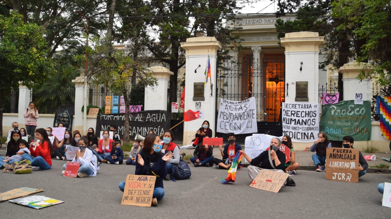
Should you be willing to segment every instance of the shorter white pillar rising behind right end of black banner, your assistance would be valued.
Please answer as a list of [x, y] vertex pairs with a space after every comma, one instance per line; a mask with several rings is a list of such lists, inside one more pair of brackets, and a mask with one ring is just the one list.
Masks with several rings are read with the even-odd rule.
[[158, 79], [158, 85], [145, 87], [144, 110], [167, 110], [167, 89], [170, 75], [174, 73], [161, 66], [153, 66], [147, 70], [151, 71], [152, 76]]

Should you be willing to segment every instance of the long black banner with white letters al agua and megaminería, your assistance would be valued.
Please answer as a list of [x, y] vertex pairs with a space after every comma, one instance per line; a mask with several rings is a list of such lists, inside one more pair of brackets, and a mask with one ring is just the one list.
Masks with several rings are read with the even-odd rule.
[[[170, 129], [170, 112], [165, 110], [147, 110], [129, 114], [129, 137], [134, 139], [137, 134], [147, 136], [149, 130], [157, 135], [164, 134]], [[117, 126], [117, 133], [124, 136], [125, 113], [106, 114], [97, 116], [95, 135], [100, 137], [100, 131], [110, 129], [110, 125]]]

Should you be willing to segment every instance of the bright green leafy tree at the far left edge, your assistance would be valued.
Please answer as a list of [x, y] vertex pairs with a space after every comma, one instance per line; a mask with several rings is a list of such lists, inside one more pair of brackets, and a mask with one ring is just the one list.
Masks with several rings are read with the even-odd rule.
[[[0, 15], [0, 132], [3, 124], [4, 96], [21, 82], [28, 88], [38, 87], [54, 71], [54, 62], [43, 29], [34, 23], [23, 23], [20, 14]], [[2, 133], [0, 133], [2, 135]]]

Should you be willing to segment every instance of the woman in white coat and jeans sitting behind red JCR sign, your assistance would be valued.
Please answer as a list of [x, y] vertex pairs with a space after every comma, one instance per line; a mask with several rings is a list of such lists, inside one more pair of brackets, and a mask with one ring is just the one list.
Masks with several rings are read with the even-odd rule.
[[[86, 137], [80, 138], [78, 145], [79, 149], [76, 150], [76, 154], [72, 162], [80, 163], [79, 172], [77, 172], [77, 176], [86, 177], [86, 176], [96, 176], [97, 175], [97, 160], [93, 155], [90, 149], [86, 149], [88, 144], [88, 140]], [[63, 165], [65, 173], [66, 163]]]

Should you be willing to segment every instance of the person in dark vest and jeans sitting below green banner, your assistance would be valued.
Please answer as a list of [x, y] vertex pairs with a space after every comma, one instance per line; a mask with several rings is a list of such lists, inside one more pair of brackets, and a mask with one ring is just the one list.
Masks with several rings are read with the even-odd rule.
[[315, 152], [312, 154], [312, 160], [315, 163], [317, 172], [324, 172], [325, 168], [322, 168], [326, 164], [326, 147], [331, 147], [331, 142], [327, 139], [327, 134], [322, 131], [318, 134], [318, 139], [310, 147], [310, 151]]

